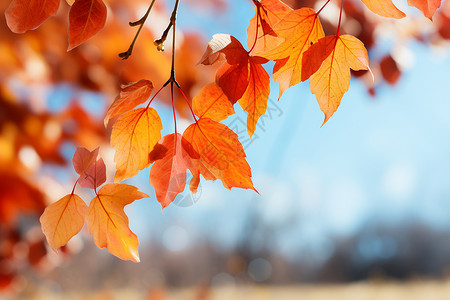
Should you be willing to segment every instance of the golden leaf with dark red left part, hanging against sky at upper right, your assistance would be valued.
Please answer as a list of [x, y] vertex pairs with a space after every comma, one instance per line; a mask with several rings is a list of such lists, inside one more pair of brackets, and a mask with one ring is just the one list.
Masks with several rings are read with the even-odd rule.
[[[364, 44], [351, 35], [326, 36], [312, 45], [303, 56], [302, 79], [309, 76], [311, 93], [316, 95], [320, 109], [325, 114], [325, 124], [341, 103], [350, 86], [350, 68], [370, 70]], [[322, 124], [322, 126], [323, 126]]]

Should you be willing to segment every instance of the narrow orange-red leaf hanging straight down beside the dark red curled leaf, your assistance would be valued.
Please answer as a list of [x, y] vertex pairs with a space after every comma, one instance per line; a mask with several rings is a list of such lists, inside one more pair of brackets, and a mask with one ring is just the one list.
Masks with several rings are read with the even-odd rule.
[[247, 89], [239, 99], [239, 105], [248, 113], [247, 132], [250, 137], [255, 132], [259, 117], [266, 112], [270, 94], [270, 77], [261, 62], [265, 63], [266, 60], [261, 57], [250, 57]]

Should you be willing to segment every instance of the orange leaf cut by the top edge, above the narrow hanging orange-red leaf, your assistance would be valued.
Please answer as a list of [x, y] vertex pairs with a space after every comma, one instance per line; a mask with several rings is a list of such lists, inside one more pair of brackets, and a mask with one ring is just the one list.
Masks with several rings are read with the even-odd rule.
[[252, 53], [258, 55], [259, 52], [266, 52], [283, 41], [272, 27], [291, 12], [292, 8], [279, 0], [253, 1], [253, 3], [256, 14], [250, 19], [247, 28], [247, 46], [249, 49], [253, 48]]

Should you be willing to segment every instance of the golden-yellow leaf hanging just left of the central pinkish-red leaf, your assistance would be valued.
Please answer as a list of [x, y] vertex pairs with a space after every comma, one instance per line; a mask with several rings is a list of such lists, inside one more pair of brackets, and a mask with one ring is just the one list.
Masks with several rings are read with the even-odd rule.
[[138, 108], [122, 115], [111, 132], [111, 146], [116, 147], [115, 182], [135, 176], [148, 167], [149, 153], [161, 138], [161, 119], [153, 108]]

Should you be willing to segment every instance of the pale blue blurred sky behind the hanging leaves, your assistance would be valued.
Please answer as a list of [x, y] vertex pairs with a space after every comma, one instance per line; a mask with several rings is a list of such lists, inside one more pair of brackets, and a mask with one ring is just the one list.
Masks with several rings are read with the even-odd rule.
[[[180, 26], [201, 27], [206, 38], [231, 33], [244, 44], [253, 11], [237, 5], [231, 2], [232, 21], [180, 14]], [[198, 202], [189, 207], [171, 205], [161, 213], [155, 201], [136, 202], [129, 209], [138, 216], [132, 226], [144, 239], [161, 237], [174, 251], [204, 238], [226, 248], [238, 240], [248, 216], [258, 214], [266, 225], [282, 228], [274, 237], [276, 250], [295, 255], [310, 249], [325, 258], [330, 237], [350, 236], [371, 220], [448, 229], [450, 60], [437, 59], [418, 43], [410, 49], [415, 64], [396, 86], [384, 86], [371, 98], [361, 82], [352, 81], [322, 128], [323, 114], [307, 83], [290, 88], [279, 102], [272, 84], [272, 115], [246, 149], [261, 197], [203, 182]], [[238, 111], [226, 123], [243, 130], [245, 119]], [[146, 183], [148, 172], [139, 178]], [[151, 187], [144, 191], [152, 195]]]

